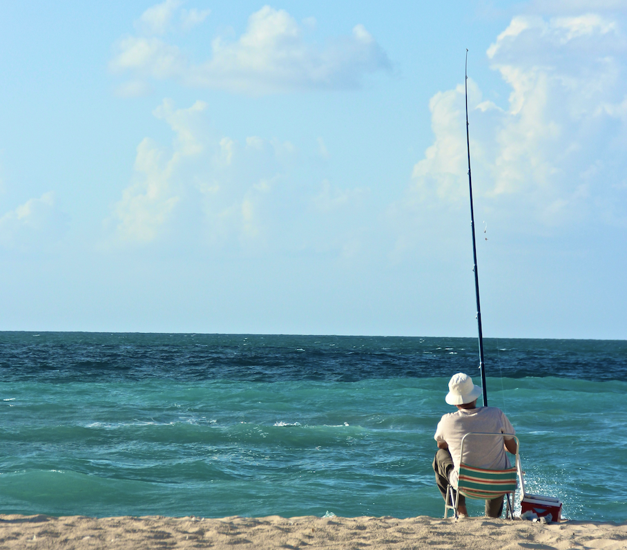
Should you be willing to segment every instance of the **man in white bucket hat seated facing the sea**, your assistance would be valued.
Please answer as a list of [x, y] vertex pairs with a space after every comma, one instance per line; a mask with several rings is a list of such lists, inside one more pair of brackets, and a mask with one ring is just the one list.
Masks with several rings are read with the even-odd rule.
[[[476, 400], [481, 395], [481, 388], [472, 383], [472, 378], [463, 372], [454, 374], [448, 383], [449, 392], [446, 402], [457, 407], [456, 412], [444, 415], [438, 422], [434, 439], [438, 442], [438, 452], [433, 461], [436, 483], [442, 496], [446, 498], [446, 488], [451, 484], [457, 487], [461, 438], [467, 433], [507, 433], [514, 435], [514, 428], [503, 411], [496, 407], [477, 407]], [[477, 468], [504, 470], [510, 468], [510, 461], [505, 449], [516, 453], [516, 441], [513, 437], [502, 439], [474, 437], [466, 438], [464, 443], [464, 462]], [[458, 513], [467, 516], [466, 502], [459, 495]], [[485, 515], [499, 518], [503, 512], [503, 497], [485, 501]]]

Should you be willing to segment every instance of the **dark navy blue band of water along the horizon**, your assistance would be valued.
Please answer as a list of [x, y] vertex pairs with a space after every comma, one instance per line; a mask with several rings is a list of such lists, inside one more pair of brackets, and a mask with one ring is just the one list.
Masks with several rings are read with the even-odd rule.
[[[627, 379], [627, 342], [485, 339], [490, 376]], [[476, 372], [476, 339], [231, 334], [0, 333], [4, 379], [111, 381], [450, 377]]]

